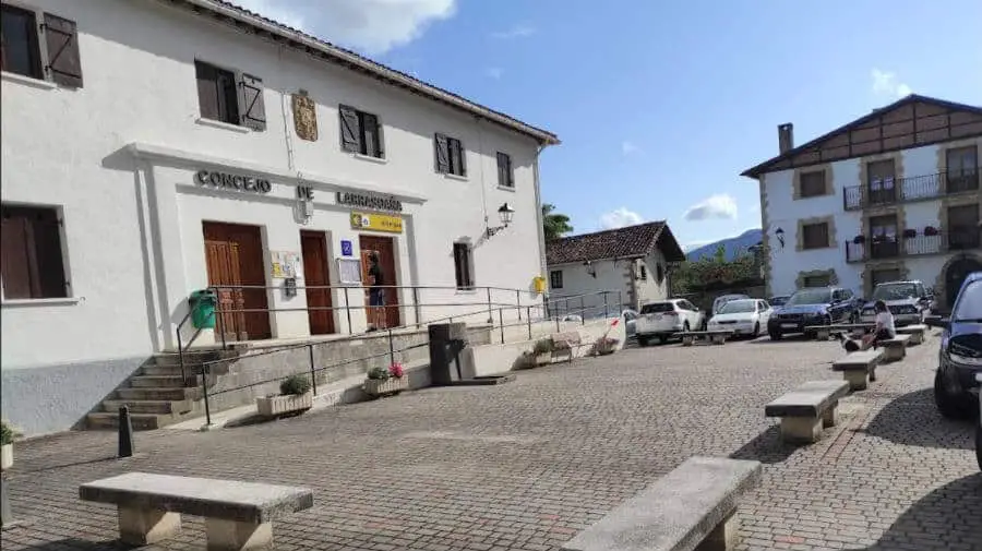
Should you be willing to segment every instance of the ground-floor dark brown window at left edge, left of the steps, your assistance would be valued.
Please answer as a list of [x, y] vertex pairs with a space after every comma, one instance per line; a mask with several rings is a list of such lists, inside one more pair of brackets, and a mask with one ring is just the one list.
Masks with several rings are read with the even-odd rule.
[[58, 212], [50, 207], [0, 207], [0, 278], [5, 299], [68, 297]]

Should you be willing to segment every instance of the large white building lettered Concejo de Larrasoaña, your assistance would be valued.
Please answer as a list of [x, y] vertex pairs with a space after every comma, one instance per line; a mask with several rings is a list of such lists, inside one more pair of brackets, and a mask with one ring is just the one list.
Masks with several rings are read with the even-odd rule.
[[225, 2], [2, 7], [4, 417], [67, 428], [214, 285], [196, 344], [541, 301], [553, 134]]

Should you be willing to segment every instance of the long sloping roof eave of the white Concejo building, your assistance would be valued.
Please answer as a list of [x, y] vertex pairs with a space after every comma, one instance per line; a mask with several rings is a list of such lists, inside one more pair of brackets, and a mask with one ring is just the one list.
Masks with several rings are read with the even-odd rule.
[[430, 99], [446, 104], [451, 107], [455, 107], [457, 109], [470, 112], [475, 116], [484, 118], [489, 121], [496, 122], [505, 128], [508, 128], [515, 132], [527, 135], [529, 137], [535, 139], [540, 145], [549, 146], [549, 145], [559, 145], [559, 137], [546, 130], [532, 127], [531, 124], [527, 124], [517, 119], [513, 119], [500, 112], [493, 111], [487, 107], [480, 106], [467, 99], [464, 99], [459, 96], [451, 94], [446, 91], [440, 89], [435, 86], [429, 85], [416, 79], [412, 79], [408, 75], [402, 74], [393, 69], [384, 67], [374, 61], [362, 58], [356, 53], [345, 51], [335, 46], [332, 46], [327, 43], [313, 39], [309, 36], [306, 36], [302, 33], [290, 31], [283, 25], [277, 25], [263, 19], [256, 17], [254, 15], [249, 15], [247, 13], [242, 13], [239, 10], [230, 8], [228, 5], [221, 5], [211, 0], [164, 0], [168, 3], [188, 3], [193, 7], [196, 7], [201, 10], [208, 10], [213, 13], [223, 15], [230, 20], [244, 23], [251, 25], [254, 28], [262, 29], [266, 33], [270, 33], [274, 36], [279, 36], [282, 38], [286, 38], [288, 40], [294, 40], [298, 46], [304, 49], [308, 52], [311, 50], [316, 50], [326, 57], [331, 58], [333, 61], [338, 62], [340, 64], [346, 64], [349, 67], [354, 67], [360, 69], [367, 73], [372, 74], [375, 77], [379, 77], [383, 81], [387, 81], [390, 84], [396, 86], [403, 86], [409, 88], [420, 95], [427, 96]]

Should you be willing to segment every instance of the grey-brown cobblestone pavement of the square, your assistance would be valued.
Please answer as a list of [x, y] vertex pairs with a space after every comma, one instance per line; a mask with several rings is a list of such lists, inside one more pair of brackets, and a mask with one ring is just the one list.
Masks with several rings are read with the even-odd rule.
[[[937, 337], [846, 398], [840, 423], [783, 446], [764, 404], [838, 379], [836, 343], [733, 342], [624, 350], [486, 387], [429, 388], [211, 433], [23, 442], [11, 471], [25, 525], [3, 549], [116, 549], [116, 511], [81, 482], [129, 470], [309, 486], [314, 507], [275, 526], [277, 549], [558, 550], [692, 455], [765, 464], [741, 502], [740, 550], [980, 550], [982, 474], [968, 422], [931, 398]], [[201, 519], [166, 549], [200, 549]]]

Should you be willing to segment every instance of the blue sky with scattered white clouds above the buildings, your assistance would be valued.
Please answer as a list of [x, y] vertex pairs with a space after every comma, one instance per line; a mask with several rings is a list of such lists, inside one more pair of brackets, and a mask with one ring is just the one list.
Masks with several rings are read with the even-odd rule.
[[240, 3], [559, 134], [543, 201], [576, 232], [734, 236], [777, 124], [804, 143], [910, 92], [982, 105], [979, 0]]

